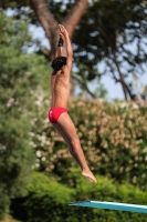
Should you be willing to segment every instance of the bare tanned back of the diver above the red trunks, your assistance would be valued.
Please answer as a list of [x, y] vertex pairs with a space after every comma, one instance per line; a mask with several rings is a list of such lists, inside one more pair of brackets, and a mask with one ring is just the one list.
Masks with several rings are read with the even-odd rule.
[[51, 107], [67, 107], [70, 99], [70, 74], [60, 70], [52, 73], [51, 75], [51, 91], [52, 91], [52, 102]]

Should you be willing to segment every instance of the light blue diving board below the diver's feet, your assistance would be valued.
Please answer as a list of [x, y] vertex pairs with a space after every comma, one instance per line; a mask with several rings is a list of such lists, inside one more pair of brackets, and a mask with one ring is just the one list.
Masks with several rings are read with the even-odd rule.
[[71, 202], [69, 203], [69, 205], [147, 213], [147, 205], [137, 205], [137, 204], [128, 204], [128, 203], [116, 203], [116, 202], [105, 202], [105, 201], [103, 202], [102, 201], [78, 201], [78, 202]]

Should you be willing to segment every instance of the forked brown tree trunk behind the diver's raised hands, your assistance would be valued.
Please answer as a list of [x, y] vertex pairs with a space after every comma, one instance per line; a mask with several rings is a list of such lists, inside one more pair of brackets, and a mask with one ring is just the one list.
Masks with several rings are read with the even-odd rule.
[[[53, 18], [44, 0], [30, 0], [30, 2], [51, 44], [50, 59], [52, 60], [54, 57], [57, 40], [59, 40], [57, 21]], [[71, 39], [73, 36], [74, 29], [80, 22], [80, 19], [82, 14], [84, 13], [84, 10], [87, 3], [88, 3], [87, 0], [75, 0], [71, 11], [62, 21], [62, 24], [67, 30]]]

